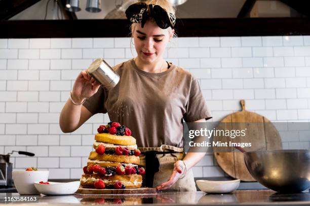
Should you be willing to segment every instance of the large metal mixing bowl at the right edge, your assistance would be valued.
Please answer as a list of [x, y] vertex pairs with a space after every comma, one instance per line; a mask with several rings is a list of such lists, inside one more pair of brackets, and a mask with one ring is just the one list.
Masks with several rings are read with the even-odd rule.
[[278, 192], [301, 192], [310, 188], [310, 150], [265, 150], [243, 153], [251, 175]]

